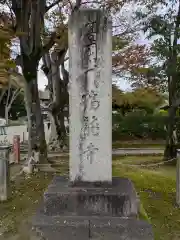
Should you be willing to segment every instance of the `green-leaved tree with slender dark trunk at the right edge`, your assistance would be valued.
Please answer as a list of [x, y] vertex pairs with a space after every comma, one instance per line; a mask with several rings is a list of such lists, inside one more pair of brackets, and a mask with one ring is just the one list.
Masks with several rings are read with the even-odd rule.
[[[144, 5], [146, 9], [143, 8]], [[147, 1], [144, 5], [139, 8], [136, 20], [141, 21], [146, 36], [153, 41], [152, 52], [156, 66], [161, 67], [168, 87], [169, 120], [164, 157], [170, 159], [176, 157], [177, 147], [173, 132], [176, 128], [175, 116], [180, 97], [178, 77], [180, 1]], [[164, 8], [164, 11], [158, 11], [160, 8]]]

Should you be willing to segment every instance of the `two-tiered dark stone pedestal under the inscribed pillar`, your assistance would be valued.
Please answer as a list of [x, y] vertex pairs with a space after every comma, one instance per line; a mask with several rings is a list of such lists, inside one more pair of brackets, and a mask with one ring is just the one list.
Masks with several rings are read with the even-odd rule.
[[152, 227], [137, 220], [138, 209], [128, 179], [74, 185], [57, 176], [44, 193], [33, 227], [44, 240], [152, 240]]

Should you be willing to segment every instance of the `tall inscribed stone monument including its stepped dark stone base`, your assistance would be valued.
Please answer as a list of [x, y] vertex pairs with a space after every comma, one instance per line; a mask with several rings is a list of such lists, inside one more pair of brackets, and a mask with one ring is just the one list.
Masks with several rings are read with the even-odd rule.
[[69, 20], [70, 176], [56, 176], [33, 226], [47, 240], [152, 240], [130, 180], [112, 177], [112, 31], [101, 10]]

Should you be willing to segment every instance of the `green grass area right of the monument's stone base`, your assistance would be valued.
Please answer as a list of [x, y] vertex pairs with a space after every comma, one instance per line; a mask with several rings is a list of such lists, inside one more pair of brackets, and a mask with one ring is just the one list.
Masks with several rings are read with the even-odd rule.
[[127, 177], [134, 182], [145, 209], [143, 218], [151, 221], [156, 240], [180, 239], [180, 209], [175, 206], [176, 185], [172, 171], [175, 173], [175, 167], [163, 166], [149, 170], [115, 165], [113, 168], [114, 176]]

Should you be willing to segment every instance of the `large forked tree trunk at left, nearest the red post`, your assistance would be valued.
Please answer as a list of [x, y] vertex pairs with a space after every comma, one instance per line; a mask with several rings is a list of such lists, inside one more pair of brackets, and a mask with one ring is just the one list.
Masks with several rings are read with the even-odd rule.
[[40, 153], [40, 162], [47, 160], [47, 146], [45, 141], [44, 124], [41, 114], [37, 70], [42, 55], [49, 51], [55, 44], [56, 33], [52, 33], [50, 40], [43, 45], [42, 34], [44, 33], [44, 16], [51, 7], [47, 9], [46, 1], [11, 1], [11, 7], [16, 17], [15, 28], [17, 32], [23, 32], [19, 36], [20, 58], [19, 64], [22, 67], [25, 78], [26, 109], [28, 116], [29, 130], [29, 157], [32, 150]]

